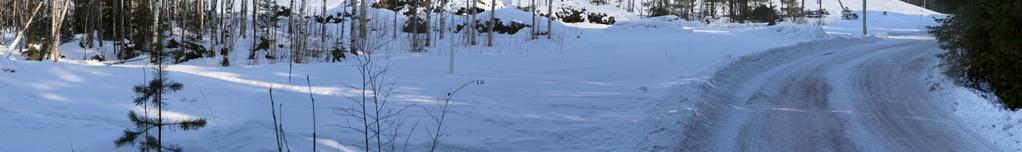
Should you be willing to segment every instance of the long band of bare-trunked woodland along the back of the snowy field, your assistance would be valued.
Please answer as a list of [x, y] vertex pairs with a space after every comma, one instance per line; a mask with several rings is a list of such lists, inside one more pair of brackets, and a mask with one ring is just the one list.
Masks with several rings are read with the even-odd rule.
[[[29, 60], [59, 60], [57, 44], [77, 42], [81, 49], [112, 53], [87, 53], [83, 59], [129, 60], [169, 53], [175, 63], [196, 58], [219, 58], [231, 65], [232, 52], [246, 52], [249, 63], [339, 61], [363, 53], [368, 42], [403, 41], [411, 51], [428, 50], [435, 40], [458, 37], [478, 45], [493, 33], [513, 35], [529, 28], [531, 39], [551, 38], [550, 20], [612, 24], [614, 17], [579, 8], [553, 8], [552, 0], [504, 2], [532, 14], [531, 22], [501, 21], [495, 17], [496, 0], [469, 0], [448, 8], [451, 0], [350, 0], [327, 9], [309, 5], [325, 0], [5, 0], [0, 2], [0, 42]], [[595, 4], [612, 5], [605, 0]], [[782, 0], [620, 0], [616, 5], [644, 16], [678, 15], [690, 20], [727, 18], [731, 22], [804, 22], [804, 2]], [[482, 8], [490, 6], [491, 8]], [[544, 6], [546, 10], [544, 10]], [[374, 18], [370, 9], [390, 10], [398, 17]], [[450, 10], [449, 10], [450, 9]], [[338, 11], [339, 10], [339, 11]], [[328, 12], [330, 11], [330, 12]], [[552, 12], [552, 13], [551, 13]], [[489, 13], [489, 15], [487, 15]], [[489, 18], [485, 18], [486, 16]], [[540, 26], [537, 17], [547, 19]], [[461, 22], [454, 22], [459, 18]], [[471, 20], [471, 21], [468, 21]], [[388, 29], [388, 30], [383, 30]], [[389, 30], [392, 29], [392, 30]], [[544, 30], [545, 29], [545, 30]], [[370, 38], [370, 31], [384, 38]], [[409, 34], [399, 39], [399, 34]], [[456, 35], [457, 34], [457, 35]], [[408, 40], [404, 40], [408, 39]], [[375, 42], [375, 41], [374, 41]], [[376, 44], [379, 45], [379, 44]], [[87, 51], [88, 52], [88, 51]], [[151, 58], [151, 57], [150, 57]]]

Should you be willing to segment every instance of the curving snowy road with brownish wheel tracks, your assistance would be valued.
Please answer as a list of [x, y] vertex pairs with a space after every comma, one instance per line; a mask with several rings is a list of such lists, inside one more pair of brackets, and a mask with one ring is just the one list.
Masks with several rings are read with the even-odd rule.
[[837, 40], [770, 51], [804, 54], [780, 63], [744, 59], [744, 67], [725, 68], [742, 75], [714, 78], [725, 82], [716, 92], [730, 95], [702, 95], [710, 101], [695, 109], [715, 111], [684, 129], [691, 135], [680, 148], [997, 151], [936, 106], [949, 104], [924, 81], [937, 50], [932, 40]]

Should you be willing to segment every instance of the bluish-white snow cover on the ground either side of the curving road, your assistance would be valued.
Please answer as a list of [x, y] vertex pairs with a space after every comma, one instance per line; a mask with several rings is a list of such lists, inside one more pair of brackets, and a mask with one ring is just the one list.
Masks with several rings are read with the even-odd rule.
[[[839, 14], [835, 4], [825, 1], [824, 7]], [[845, 4], [860, 6], [858, 2]], [[933, 23], [929, 18], [940, 16], [895, 0], [870, 1], [870, 5], [877, 9], [869, 14], [871, 35], [877, 37], [930, 39], [925, 26]], [[525, 18], [524, 13], [513, 11], [499, 12]], [[624, 19], [609, 27], [558, 23], [553, 41], [529, 41], [525, 33], [519, 33], [498, 37], [493, 48], [455, 47], [446, 45], [448, 40], [425, 53], [401, 53], [407, 52], [401, 47], [407, 45], [401, 43], [385, 47], [389, 53], [377, 54], [377, 58], [391, 65], [388, 77], [397, 87], [391, 100], [410, 105], [403, 113], [405, 125], [418, 123], [415, 133], [406, 135], [411, 137], [409, 151], [428, 149], [428, 135], [423, 131], [431, 119], [424, 111], [435, 110], [437, 97], [474, 80], [485, 84], [469, 87], [455, 98], [443, 129], [442, 151], [639, 151], [678, 144], [671, 137], [681, 135], [652, 131], [671, 123], [652, 118], [664, 110], [657, 107], [661, 103], [679, 102], [677, 97], [686, 95], [677, 92], [679, 86], [704, 81], [741, 56], [772, 48], [862, 38], [861, 20], [839, 20], [836, 15], [823, 27], [700, 24], [670, 17], [617, 15]], [[71, 50], [65, 51], [68, 59], [60, 62], [0, 59], [0, 68], [16, 70], [0, 72], [0, 151], [134, 151], [114, 147], [113, 140], [131, 126], [126, 117], [136, 109], [131, 89], [151, 77], [148, 65], [77, 60], [81, 53], [76, 52], [83, 50], [63, 48]], [[449, 73], [452, 49], [457, 54], [454, 73]], [[5, 56], [7, 51], [0, 52]], [[287, 64], [222, 67], [214, 59], [200, 59], [171, 65], [169, 78], [185, 89], [168, 97], [173, 102], [166, 112], [172, 118], [204, 117], [210, 123], [197, 132], [165, 138], [185, 151], [273, 151], [268, 94], [273, 88], [275, 100], [283, 104], [288, 146], [309, 151], [313, 144], [312, 106], [305, 85], [309, 75], [319, 114], [319, 150], [361, 151], [362, 135], [344, 128], [354, 124], [355, 118], [336, 110], [352, 107], [345, 97], [359, 92], [346, 87], [359, 85], [353, 64], [296, 64], [290, 78]], [[941, 91], [962, 97], [963, 103], [979, 100], [964, 88], [941, 84], [947, 88]], [[1019, 133], [1012, 128], [1018, 122], [1009, 122], [1018, 121], [1017, 112], [969, 117], [994, 108], [988, 101], [983, 103], [956, 105], [960, 108], [955, 113], [965, 121], [982, 120], [971, 124], [988, 138], [1018, 139], [993, 130]], [[1008, 120], [998, 120], [1005, 115]], [[986, 128], [988, 123], [994, 126]]]

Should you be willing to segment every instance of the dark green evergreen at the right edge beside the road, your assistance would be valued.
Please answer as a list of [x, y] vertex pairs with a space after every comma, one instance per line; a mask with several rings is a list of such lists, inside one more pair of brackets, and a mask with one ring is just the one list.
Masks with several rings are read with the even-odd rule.
[[953, 15], [930, 28], [945, 73], [996, 94], [1008, 108], [1022, 108], [1022, 1], [945, 0]]

